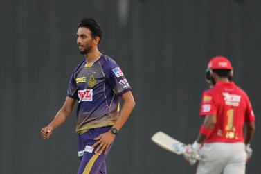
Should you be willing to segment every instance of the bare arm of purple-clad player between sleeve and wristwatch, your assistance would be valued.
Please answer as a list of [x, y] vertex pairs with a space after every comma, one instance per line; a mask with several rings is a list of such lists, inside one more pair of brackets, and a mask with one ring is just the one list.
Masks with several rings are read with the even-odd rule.
[[132, 96], [132, 92], [126, 92], [122, 96], [123, 98], [123, 107], [121, 107], [120, 114], [118, 117], [118, 120], [114, 124], [114, 128], [117, 130], [120, 130], [120, 128], [123, 127], [127, 119], [129, 118], [129, 115], [131, 114], [132, 110], [134, 109], [136, 103], [134, 101], [134, 98]]

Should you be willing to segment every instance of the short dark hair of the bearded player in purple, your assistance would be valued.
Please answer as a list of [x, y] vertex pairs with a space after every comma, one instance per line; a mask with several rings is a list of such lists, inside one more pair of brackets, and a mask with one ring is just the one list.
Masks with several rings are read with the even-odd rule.
[[100, 40], [102, 40], [102, 28], [100, 28], [100, 24], [92, 18], [83, 18], [82, 21], [80, 21], [80, 24], [78, 28], [80, 27], [86, 27], [89, 28], [91, 31], [91, 37], [100, 37]]

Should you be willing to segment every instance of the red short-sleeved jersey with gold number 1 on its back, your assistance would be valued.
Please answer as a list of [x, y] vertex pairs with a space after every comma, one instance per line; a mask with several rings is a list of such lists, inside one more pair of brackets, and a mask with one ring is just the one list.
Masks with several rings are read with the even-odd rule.
[[244, 123], [255, 121], [249, 97], [234, 82], [217, 82], [206, 90], [200, 115], [217, 116], [217, 123], [205, 143], [244, 142]]

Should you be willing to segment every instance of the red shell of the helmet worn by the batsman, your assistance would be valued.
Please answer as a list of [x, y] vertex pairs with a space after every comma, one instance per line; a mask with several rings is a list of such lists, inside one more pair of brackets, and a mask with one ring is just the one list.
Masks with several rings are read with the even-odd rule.
[[233, 70], [231, 62], [223, 56], [217, 56], [210, 60], [208, 69], [229, 69]]

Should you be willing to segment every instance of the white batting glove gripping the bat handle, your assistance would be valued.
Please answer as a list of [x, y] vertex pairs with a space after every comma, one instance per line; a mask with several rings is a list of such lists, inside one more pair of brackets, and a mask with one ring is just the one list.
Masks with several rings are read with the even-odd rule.
[[183, 156], [190, 165], [194, 165], [199, 159], [200, 148], [201, 148], [201, 143], [197, 143], [197, 141], [195, 141], [192, 145], [190, 144], [187, 145], [185, 153], [183, 153]]

